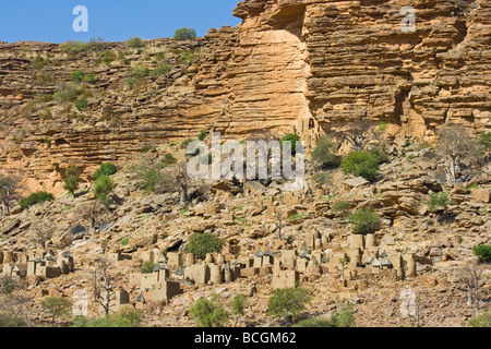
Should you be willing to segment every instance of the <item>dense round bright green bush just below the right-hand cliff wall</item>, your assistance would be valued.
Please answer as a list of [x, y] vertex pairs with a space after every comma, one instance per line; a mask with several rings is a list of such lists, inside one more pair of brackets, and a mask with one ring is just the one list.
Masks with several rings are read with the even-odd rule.
[[379, 174], [380, 158], [370, 152], [352, 152], [342, 161], [345, 174], [361, 176], [368, 181], [373, 181]]

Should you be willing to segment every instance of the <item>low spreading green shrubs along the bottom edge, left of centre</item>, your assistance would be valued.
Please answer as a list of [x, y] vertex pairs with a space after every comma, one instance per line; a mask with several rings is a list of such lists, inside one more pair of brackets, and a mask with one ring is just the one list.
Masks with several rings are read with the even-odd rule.
[[134, 310], [131, 306], [124, 306], [118, 313], [108, 317], [100, 317], [91, 321], [85, 316], [76, 316], [73, 321], [72, 327], [140, 327], [142, 324], [142, 311]]

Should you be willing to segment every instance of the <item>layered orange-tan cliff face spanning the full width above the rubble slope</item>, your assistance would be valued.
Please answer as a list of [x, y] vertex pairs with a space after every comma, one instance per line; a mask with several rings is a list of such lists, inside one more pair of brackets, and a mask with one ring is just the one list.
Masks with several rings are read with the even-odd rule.
[[[416, 11], [412, 32], [402, 27], [404, 7]], [[55, 44], [0, 43], [2, 167], [22, 168], [32, 189], [59, 193], [70, 163], [89, 173], [201, 130], [306, 139], [362, 117], [432, 141], [445, 122], [491, 128], [490, 0], [246, 0], [233, 14], [243, 20], [237, 27], [185, 45], [152, 40], [146, 55], [110, 67], [94, 56], [63, 57]], [[110, 49], [125, 50], [121, 43]], [[196, 49], [193, 64], [177, 57]], [[132, 67], [155, 69], [158, 52], [173, 69], [140, 92], [122, 89]], [[52, 64], [34, 69], [36, 55], [50, 55]], [[97, 76], [88, 111], [29, 105], [75, 70]], [[108, 106], [117, 124], [101, 120]]]

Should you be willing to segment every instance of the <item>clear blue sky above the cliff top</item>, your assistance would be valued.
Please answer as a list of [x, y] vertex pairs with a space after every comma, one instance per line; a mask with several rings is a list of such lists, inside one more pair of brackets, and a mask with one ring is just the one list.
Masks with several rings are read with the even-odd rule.
[[[208, 28], [236, 26], [231, 15], [239, 0], [11, 0], [1, 1], [0, 41], [87, 41], [103, 37], [123, 41], [171, 37], [181, 27], [192, 27], [199, 36]], [[73, 31], [73, 9], [88, 10], [88, 33]]]

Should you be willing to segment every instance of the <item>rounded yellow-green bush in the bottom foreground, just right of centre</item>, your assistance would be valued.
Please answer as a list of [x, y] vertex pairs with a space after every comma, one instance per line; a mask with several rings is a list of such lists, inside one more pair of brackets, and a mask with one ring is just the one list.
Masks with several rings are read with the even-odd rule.
[[302, 287], [276, 289], [267, 302], [267, 314], [275, 317], [291, 316], [295, 322], [311, 301], [309, 290]]

